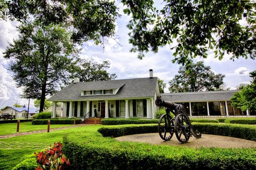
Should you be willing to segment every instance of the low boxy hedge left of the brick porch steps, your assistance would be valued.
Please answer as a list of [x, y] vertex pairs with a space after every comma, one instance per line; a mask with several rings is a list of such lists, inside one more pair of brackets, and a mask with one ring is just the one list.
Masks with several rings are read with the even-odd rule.
[[[35, 119], [32, 121], [32, 124], [48, 124], [48, 120], [51, 121], [51, 124], [74, 124], [73, 118], [51, 118], [51, 119]], [[81, 124], [82, 120], [80, 118], [76, 118], [76, 124]]]

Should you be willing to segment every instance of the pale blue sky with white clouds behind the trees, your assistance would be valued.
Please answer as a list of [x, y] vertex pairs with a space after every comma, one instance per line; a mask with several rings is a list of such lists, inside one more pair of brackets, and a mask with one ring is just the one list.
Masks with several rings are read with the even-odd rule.
[[[102, 46], [95, 46], [92, 41], [86, 42], [82, 46], [81, 58], [93, 59], [95, 61], [108, 60], [111, 63], [108, 72], [116, 73], [116, 79], [142, 78], [149, 76], [149, 69], [153, 69], [154, 76], [164, 80], [167, 84], [165, 92], [168, 91], [168, 82], [177, 74], [180, 65], [172, 63], [172, 50], [170, 46], [164, 46], [158, 53], [145, 53], [145, 58], [139, 60], [137, 53], [131, 53], [131, 44], [128, 43], [128, 32], [126, 25], [130, 18], [122, 13], [124, 8], [121, 3], [117, 3], [122, 17], [116, 22], [116, 40], [105, 38], [105, 50]], [[159, 4], [158, 4], [159, 5]], [[26, 99], [20, 98], [22, 88], [16, 88], [12, 79], [12, 72], [7, 70], [8, 61], [3, 58], [3, 52], [8, 42], [17, 38], [15, 25], [17, 22], [0, 20], [0, 108], [14, 103], [28, 104]], [[118, 45], [116, 41], [121, 45]], [[196, 58], [194, 61], [204, 61], [216, 73], [226, 75], [224, 82], [231, 89], [235, 89], [242, 82], [249, 82], [249, 72], [256, 69], [256, 61], [252, 59], [239, 58], [235, 61], [229, 59], [229, 55], [219, 61], [209, 52], [207, 59]]]

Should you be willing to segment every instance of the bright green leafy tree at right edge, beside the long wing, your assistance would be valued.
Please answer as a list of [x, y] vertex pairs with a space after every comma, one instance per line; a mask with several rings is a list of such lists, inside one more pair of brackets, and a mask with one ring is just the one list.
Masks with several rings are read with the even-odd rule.
[[250, 77], [253, 78], [251, 84], [244, 85], [230, 100], [233, 107], [242, 111], [248, 109], [256, 115], [256, 70], [250, 72]]

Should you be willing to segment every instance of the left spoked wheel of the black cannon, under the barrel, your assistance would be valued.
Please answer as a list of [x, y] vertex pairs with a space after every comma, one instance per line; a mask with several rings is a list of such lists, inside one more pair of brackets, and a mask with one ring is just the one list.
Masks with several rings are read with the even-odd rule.
[[168, 114], [163, 114], [158, 122], [158, 133], [160, 137], [165, 140], [169, 141], [174, 133], [174, 121], [172, 117]]

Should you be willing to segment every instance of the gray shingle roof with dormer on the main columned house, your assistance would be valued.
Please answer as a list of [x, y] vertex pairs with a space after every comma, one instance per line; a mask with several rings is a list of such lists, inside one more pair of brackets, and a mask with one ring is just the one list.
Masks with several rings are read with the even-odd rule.
[[[67, 100], [103, 100], [113, 98], [143, 98], [154, 97], [157, 86], [157, 77], [153, 78], [133, 78], [111, 81], [93, 81], [72, 83], [57, 92], [48, 101], [67, 101]], [[116, 89], [116, 95], [88, 95], [81, 96], [83, 90], [96, 89]]]

